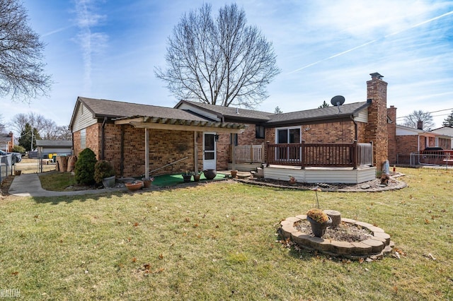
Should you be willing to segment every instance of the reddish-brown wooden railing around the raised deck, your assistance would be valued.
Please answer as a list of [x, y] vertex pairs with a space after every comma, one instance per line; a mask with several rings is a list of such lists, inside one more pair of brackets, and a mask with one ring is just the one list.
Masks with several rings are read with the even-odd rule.
[[267, 165], [354, 167], [372, 165], [372, 143], [266, 143]]

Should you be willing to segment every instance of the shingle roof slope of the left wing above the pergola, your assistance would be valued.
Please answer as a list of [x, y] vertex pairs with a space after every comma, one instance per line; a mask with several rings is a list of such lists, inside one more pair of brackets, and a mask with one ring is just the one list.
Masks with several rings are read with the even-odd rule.
[[194, 114], [171, 107], [158, 107], [155, 105], [140, 105], [137, 103], [120, 102], [115, 100], [99, 100], [94, 98], [82, 98], [80, 100], [88, 110], [93, 113], [94, 118], [108, 117], [112, 119], [148, 116], [168, 119], [186, 119], [206, 121], [207, 119], [197, 117]]

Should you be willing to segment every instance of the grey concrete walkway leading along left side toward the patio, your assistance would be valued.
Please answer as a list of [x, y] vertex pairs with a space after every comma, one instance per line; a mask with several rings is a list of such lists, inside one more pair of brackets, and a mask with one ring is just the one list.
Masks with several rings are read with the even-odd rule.
[[126, 188], [108, 188], [79, 191], [48, 191], [42, 189], [38, 174], [22, 174], [14, 177], [8, 193], [13, 196], [79, 196], [83, 194], [103, 194], [112, 191], [122, 191]]

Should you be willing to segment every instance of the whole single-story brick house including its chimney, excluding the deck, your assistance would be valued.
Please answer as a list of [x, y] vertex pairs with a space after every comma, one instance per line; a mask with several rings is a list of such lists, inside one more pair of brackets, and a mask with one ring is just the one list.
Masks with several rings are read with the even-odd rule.
[[372, 141], [380, 170], [388, 158], [387, 83], [379, 73], [371, 76], [366, 101], [282, 114], [185, 100], [169, 108], [79, 97], [69, 124], [74, 155], [91, 148], [126, 177], [226, 170], [231, 144]]

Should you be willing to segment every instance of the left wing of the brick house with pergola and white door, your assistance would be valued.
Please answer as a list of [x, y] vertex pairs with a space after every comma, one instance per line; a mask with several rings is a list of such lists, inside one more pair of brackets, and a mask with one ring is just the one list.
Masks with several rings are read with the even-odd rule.
[[74, 155], [91, 148], [120, 177], [219, 168], [217, 135], [240, 134], [245, 127], [176, 108], [82, 97], [69, 124]]

